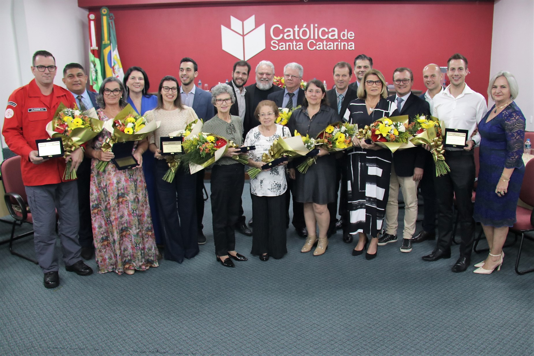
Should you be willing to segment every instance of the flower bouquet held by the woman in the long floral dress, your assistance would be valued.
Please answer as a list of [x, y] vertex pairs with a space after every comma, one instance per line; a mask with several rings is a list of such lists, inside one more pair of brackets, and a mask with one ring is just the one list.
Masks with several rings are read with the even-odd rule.
[[[115, 143], [140, 141], [159, 126], [160, 121], [147, 122], [144, 116], [137, 114], [136, 110], [128, 104], [113, 120], [104, 122], [104, 129], [111, 132], [112, 137], [104, 141], [101, 149], [104, 152], [111, 151]], [[104, 172], [108, 163], [100, 161], [95, 168]]]

